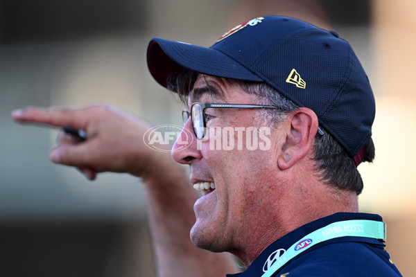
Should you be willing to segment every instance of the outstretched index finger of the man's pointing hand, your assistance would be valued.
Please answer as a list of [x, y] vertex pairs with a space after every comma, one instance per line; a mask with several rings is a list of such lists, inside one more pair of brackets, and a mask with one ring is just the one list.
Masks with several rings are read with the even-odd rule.
[[36, 123], [51, 126], [71, 126], [76, 129], [87, 127], [88, 116], [80, 109], [27, 107], [12, 111], [12, 118], [19, 123]]

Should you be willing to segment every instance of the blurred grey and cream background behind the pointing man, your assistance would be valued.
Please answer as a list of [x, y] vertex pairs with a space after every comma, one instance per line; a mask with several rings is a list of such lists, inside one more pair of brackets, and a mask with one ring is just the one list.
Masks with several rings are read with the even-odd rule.
[[0, 276], [155, 276], [140, 179], [87, 181], [52, 164], [58, 130], [18, 125], [10, 111], [107, 103], [180, 125], [182, 107], [148, 73], [149, 39], [210, 46], [261, 15], [304, 19], [352, 44], [377, 105], [376, 160], [358, 168], [361, 211], [383, 215], [392, 260], [411, 276], [415, 12], [410, 0], [0, 0]]

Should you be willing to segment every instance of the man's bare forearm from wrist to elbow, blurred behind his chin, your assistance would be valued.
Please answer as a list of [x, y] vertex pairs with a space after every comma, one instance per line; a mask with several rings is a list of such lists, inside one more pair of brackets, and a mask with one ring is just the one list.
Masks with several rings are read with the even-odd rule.
[[172, 276], [225, 276], [236, 266], [227, 253], [195, 247], [189, 231], [195, 223], [197, 199], [184, 168], [173, 160], [152, 177], [144, 176], [148, 194], [148, 222], [155, 250], [157, 273]]

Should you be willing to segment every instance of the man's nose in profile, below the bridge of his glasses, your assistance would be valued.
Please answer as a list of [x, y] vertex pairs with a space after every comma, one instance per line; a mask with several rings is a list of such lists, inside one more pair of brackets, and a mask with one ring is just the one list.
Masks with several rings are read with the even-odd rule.
[[200, 150], [197, 149], [196, 136], [193, 133], [191, 118], [188, 118], [182, 132], [177, 136], [172, 148], [172, 158], [178, 163], [191, 164], [195, 159], [202, 159]]

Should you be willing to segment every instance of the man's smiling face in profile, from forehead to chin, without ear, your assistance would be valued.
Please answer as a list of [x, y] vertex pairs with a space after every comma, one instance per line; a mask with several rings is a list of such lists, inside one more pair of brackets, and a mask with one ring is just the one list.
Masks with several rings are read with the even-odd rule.
[[[189, 94], [189, 109], [193, 102], [259, 104], [236, 82], [201, 75]], [[214, 189], [203, 190], [204, 195], [194, 205], [193, 244], [210, 251], [233, 252], [245, 244], [247, 238], [252, 238], [252, 232], [261, 221], [259, 217], [267, 214], [263, 205], [270, 198], [270, 182], [276, 178], [275, 143], [279, 138], [273, 129], [270, 129], [271, 134], [256, 134], [257, 123], [262, 126], [256, 109], [207, 108], [205, 114], [208, 128], [205, 139], [197, 143], [194, 136], [189, 148], [180, 151], [175, 151], [178, 148], [175, 144], [172, 156], [175, 161], [189, 165], [194, 187], [215, 184]], [[218, 133], [217, 139], [209, 134], [216, 127], [221, 131], [227, 129], [221, 132], [219, 140]], [[191, 118], [184, 128], [193, 134]], [[232, 136], [233, 148], [229, 140]], [[182, 134], [181, 138], [186, 140]], [[220, 141], [219, 149], [217, 141]]]

